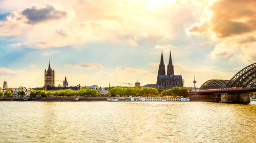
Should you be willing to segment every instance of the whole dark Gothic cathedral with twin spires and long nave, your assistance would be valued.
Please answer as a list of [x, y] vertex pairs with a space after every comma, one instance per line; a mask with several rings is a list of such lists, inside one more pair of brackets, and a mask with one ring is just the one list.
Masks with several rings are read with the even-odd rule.
[[167, 89], [172, 87], [182, 87], [183, 80], [181, 75], [174, 75], [174, 67], [172, 64], [172, 55], [170, 52], [169, 63], [167, 65], [167, 71], [165, 70], [165, 64], [163, 64], [163, 51], [157, 75], [157, 85], [164, 86]]

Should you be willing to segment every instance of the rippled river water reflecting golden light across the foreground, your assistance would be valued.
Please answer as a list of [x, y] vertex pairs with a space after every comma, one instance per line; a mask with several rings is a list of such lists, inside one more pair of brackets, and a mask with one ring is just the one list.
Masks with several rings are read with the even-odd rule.
[[0, 142], [256, 142], [256, 102], [0, 102]]

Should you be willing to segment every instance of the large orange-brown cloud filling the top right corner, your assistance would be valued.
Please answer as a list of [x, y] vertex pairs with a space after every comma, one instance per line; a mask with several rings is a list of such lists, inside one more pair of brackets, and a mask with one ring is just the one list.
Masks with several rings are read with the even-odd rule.
[[[256, 1], [214, 1], [207, 6], [199, 23], [186, 29], [189, 34], [214, 33], [218, 38], [243, 35], [256, 30]], [[244, 8], [241, 8], [244, 7]]]

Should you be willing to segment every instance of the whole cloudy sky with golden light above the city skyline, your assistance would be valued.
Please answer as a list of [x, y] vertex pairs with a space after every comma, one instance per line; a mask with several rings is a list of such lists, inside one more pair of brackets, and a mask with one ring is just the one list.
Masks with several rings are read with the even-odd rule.
[[[156, 84], [168, 64], [185, 86], [231, 79], [256, 62], [254, 0], [0, 0], [0, 81], [44, 86]], [[55, 81], [55, 85], [62, 84]], [[0, 85], [1, 86], [1, 85]]]

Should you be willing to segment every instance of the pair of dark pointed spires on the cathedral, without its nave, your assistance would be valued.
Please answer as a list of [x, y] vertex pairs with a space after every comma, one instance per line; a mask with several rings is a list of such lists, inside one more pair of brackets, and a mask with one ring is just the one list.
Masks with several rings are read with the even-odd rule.
[[163, 63], [163, 51], [161, 54], [161, 60], [160, 60], [160, 65], [158, 69], [158, 75], [174, 75], [174, 67], [172, 64], [172, 55], [170, 51], [170, 58], [169, 58], [169, 63], [167, 65], [167, 73], [165, 73], [165, 64]]

